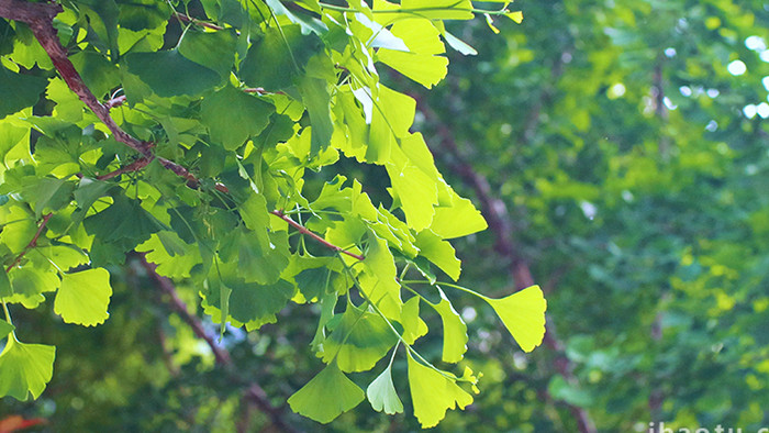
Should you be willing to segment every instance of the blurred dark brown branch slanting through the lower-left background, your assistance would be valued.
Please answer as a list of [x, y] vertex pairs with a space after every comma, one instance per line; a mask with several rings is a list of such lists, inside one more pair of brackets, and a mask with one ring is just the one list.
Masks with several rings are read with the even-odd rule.
[[[232, 367], [233, 362], [232, 357], [230, 356], [230, 352], [226, 348], [219, 346], [214, 338], [205, 333], [203, 324], [198, 317], [190, 314], [189, 310], [187, 309], [187, 304], [177, 295], [174, 282], [169, 278], [159, 275], [157, 273], [157, 265], [147, 262], [145, 254], [137, 254], [137, 257], [149, 278], [155, 281], [157, 287], [160, 288], [163, 292], [168, 295], [170, 298], [171, 308], [181, 317], [181, 320], [183, 320], [192, 329], [192, 332], [199, 338], [203, 338], [209, 347], [211, 347], [211, 352], [213, 352], [216, 364], [225, 367]], [[246, 389], [244, 397], [253, 401], [254, 404], [259, 408], [259, 410], [269, 417], [272, 425], [275, 425], [275, 428], [277, 428], [279, 431], [289, 433], [298, 432], [297, 429], [291, 426], [283, 419], [282, 410], [274, 407], [272, 403], [270, 403], [267, 392], [265, 392], [259, 384], [252, 382]]]

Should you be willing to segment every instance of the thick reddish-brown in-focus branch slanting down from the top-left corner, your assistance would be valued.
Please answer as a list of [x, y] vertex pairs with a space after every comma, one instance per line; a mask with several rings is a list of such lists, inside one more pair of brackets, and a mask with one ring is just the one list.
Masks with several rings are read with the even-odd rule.
[[[157, 158], [160, 165], [174, 171], [177, 176], [183, 177], [188, 185], [197, 188], [200, 181], [187, 168], [169, 159], [159, 156], [156, 157], [152, 152], [154, 147], [153, 143], [135, 138], [115, 123], [114, 119], [110, 115], [110, 108], [114, 107], [114, 103], [116, 103], [120, 98], [115, 98], [102, 104], [93, 96], [88, 86], [86, 86], [80, 74], [75, 69], [73, 63], [69, 62], [67, 49], [62, 46], [56, 29], [53, 25], [54, 16], [63, 11], [64, 8], [56, 3], [0, 0], [0, 16], [23, 22], [30, 26], [35, 38], [48, 54], [54, 67], [69, 89], [107, 125], [116, 141], [142, 154], [142, 156], [146, 158], [147, 164]], [[122, 103], [122, 101], [120, 103]], [[215, 188], [219, 191], [229, 192], [227, 188], [222, 184], [216, 184]]]

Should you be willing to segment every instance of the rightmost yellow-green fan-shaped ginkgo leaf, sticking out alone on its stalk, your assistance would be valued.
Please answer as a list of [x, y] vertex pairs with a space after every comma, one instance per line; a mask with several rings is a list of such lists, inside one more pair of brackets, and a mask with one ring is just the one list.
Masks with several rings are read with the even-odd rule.
[[531, 286], [502, 299], [486, 298], [524, 352], [532, 352], [545, 336], [547, 301], [539, 286]]

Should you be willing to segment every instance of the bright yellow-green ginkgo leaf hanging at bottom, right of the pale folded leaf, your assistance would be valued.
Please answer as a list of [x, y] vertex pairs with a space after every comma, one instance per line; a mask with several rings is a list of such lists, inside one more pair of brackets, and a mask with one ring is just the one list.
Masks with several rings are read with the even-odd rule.
[[465, 409], [472, 404], [472, 396], [461, 389], [455, 379], [416, 362], [409, 353], [409, 388], [414, 417], [422, 429], [438, 424], [448, 409]]

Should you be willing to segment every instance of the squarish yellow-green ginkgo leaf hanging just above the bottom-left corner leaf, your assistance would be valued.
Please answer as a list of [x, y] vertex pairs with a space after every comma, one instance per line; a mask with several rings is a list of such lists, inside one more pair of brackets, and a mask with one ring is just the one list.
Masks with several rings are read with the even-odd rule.
[[54, 312], [65, 323], [96, 326], [104, 323], [110, 313], [107, 308], [112, 297], [110, 273], [104, 268], [64, 274], [62, 287], [56, 292]]

